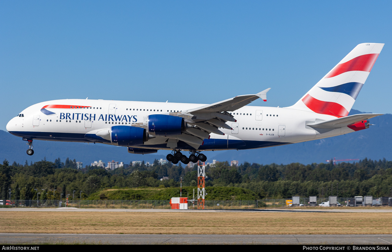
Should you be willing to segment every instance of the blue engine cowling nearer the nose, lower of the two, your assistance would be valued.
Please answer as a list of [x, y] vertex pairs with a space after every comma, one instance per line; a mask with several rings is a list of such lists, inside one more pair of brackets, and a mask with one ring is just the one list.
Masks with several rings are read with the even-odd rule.
[[118, 146], [143, 145], [147, 142], [146, 130], [132, 126], [112, 126], [111, 141], [112, 144], [118, 144]]

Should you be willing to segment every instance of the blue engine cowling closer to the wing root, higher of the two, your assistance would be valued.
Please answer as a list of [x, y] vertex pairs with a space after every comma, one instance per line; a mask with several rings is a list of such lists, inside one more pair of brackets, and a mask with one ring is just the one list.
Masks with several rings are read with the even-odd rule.
[[151, 135], [180, 135], [184, 130], [185, 121], [182, 117], [173, 115], [149, 115], [148, 117], [148, 131]]

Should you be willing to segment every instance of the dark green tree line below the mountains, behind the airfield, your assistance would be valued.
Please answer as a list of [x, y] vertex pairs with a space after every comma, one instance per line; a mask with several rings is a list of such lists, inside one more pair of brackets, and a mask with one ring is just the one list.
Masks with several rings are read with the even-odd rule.
[[[131, 162], [132, 164], [132, 162]], [[205, 186], [238, 187], [254, 192], [256, 198], [289, 198], [291, 196], [353, 197], [392, 196], [392, 161], [365, 158], [354, 163], [250, 164], [238, 167], [228, 162], [206, 166]], [[162, 180], [161, 180], [162, 179]], [[86, 166], [76, 169], [76, 161], [41, 160], [24, 165], [4, 160], [0, 165], [0, 199], [59, 200], [87, 198], [102, 189], [147, 187], [197, 187], [197, 165], [151, 166], [136, 164], [107, 171]]]

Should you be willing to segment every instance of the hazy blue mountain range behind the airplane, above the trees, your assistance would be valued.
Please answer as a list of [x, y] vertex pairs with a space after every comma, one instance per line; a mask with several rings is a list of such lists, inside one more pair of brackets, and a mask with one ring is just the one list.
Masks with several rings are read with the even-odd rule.
[[[351, 110], [350, 115], [365, 113]], [[370, 119], [371, 124], [367, 130], [361, 130], [347, 135], [330, 137], [327, 139], [313, 140], [298, 144], [276, 146], [263, 149], [208, 151], [205, 152], [209, 161], [239, 160], [259, 164], [289, 164], [299, 162], [310, 164], [320, 163], [336, 157], [336, 159], [370, 159], [392, 160], [392, 114], [385, 114]], [[157, 154], [137, 155], [130, 154], [124, 147], [108, 146], [105, 144], [85, 144], [72, 142], [34, 141], [34, 155], [26, 154], [28, 148], [20, 137], [15, 137], [6, 131], [0, 130], [0, 161], [7, 159], [10, 163], [16, 161], [24, 164], [25, 160], [46, 160], [54, 162], [58, 157], [65, 162], [67, 157], [83, 162], [83, 166], [89, 165], [95, 160], [108, 162], [111, 160], [129, 164], [130, 161], [145, 160], [153, 162], [154, 159], [166, 158], [168, 151], [158, 151]]]

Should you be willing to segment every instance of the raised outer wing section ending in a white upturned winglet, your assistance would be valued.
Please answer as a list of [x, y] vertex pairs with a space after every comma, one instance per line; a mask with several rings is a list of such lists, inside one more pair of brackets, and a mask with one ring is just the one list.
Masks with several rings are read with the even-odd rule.
[[211, 112], [225, 112], [225, 111], [234, 111], [242, 108], [243, 106], [251, 103], [252, 101], [261, 98], [263, 101], [267, 101], [267, 92], [271, 88], [267, 88], [266, 90], [261, 91], [257, 94], [252, 95], [238, 95], [236, 97], [220, 101], [217, 103], [208, 104], [205, 106], [201, 106], [199, 108], [193, 108], [190, 110], [185, 110], [183, 113], [211, 113]]

